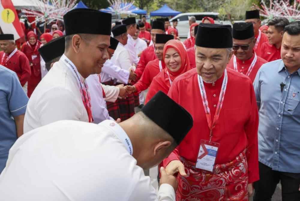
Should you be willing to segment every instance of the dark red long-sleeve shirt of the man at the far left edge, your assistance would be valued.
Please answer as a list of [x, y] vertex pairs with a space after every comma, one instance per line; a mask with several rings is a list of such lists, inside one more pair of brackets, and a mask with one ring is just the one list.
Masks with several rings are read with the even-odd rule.
[[[1, 51], [0, 59], [3, 57], [3, 54], [5, 53]], [[9, 55], [10, 54], [5, 54], [3, 61], [5, 61]], [[14, 53], [6, 62], [3, 62], [2, 65], [17, 74], [22, 86], [29, 80], [31, 75], [29, 60], [23, 52], [17, 50], [16, 53]]]

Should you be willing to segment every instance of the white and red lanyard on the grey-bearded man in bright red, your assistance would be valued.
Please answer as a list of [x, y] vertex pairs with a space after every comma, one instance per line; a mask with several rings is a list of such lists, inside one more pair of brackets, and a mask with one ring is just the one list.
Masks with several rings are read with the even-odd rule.
[[217, 110], [216, 110], [216, 113], [214, 115], [214, 120], [213, 120], [213, 122], [211, 122], [211, 113], [210, 113], [209, 106], [208, 106], [208, 101], [207, 101], [207, 96], [206, 96], [203, 80], [202, 80], [202, 77], [200, 75], [198, 75], [200, 94], [201, 94], [201, 97], [202, 97], [202, 103], [203, 103], [203, 107], [204, 107], [204, 110], [205, 110], [205, 115], [206, 115], [208, 127], [210, 129], [209, 142], [211, 142], [212, 130], [213, 130], [214, 126], [217, 124], [217, 122], [219, 120], [219, 117], [220, 117], [220, 112], [221, 112], [221, 108], [222, 108], [222, 105], [223, 105], [224, 96], [225, 96], [226, 87], [227, 87], [227, 82], [228, 82], [227, 79], [228, 79], [227, 70], [225, 69], [225, 75], [224, 75], [223, 82], [222, 82], [222, 88], [221, 88], [221, 91], [220, 91], [219, 101], [218, 101], [218, 104], [217, 104]]

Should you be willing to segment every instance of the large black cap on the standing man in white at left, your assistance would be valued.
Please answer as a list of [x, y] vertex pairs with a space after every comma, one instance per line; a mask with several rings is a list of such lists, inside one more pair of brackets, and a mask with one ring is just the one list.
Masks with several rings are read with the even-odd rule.
[[64, 15], [66, 35], [111, 34], [112, 15], [99, 10], [77, 8]]

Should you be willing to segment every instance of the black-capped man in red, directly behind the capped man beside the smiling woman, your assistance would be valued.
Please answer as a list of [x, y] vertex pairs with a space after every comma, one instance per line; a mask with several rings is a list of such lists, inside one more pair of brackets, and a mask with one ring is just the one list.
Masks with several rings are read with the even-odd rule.
[[137, 64], [137, 69], [134, 71], [137, 74], [137, 80], [139, 80], [145, 70], [146, 65], [149, 63], [149, 61], [153, 61], [156, 59], [155, 56], [155, 35], [156, 34], [164, 34], [165, 33], [165, 25], [163, 22], [160, 21], [154, 21], [152, 23], [152, 29], [151, 29], [151, 38], [153, 45], [150, 45], [145, 49], [140, 57], [140, 61]]

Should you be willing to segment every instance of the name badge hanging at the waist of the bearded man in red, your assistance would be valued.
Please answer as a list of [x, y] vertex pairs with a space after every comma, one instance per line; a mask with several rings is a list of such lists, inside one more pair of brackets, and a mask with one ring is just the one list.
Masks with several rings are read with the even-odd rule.
[[196, 161], [196, 168], [212, 172], [214, 169], [214, 164], [217, 158], [219, 147], [219, 143], [209, 142], [208, 140], [201, 140]]

